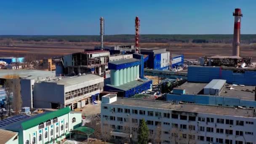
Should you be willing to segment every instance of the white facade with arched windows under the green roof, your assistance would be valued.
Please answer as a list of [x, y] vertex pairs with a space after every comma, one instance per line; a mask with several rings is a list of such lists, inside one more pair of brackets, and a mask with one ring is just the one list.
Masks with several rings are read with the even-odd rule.
[[[76, 122], [72, 123], [72, 118], [76, 118]], [[51, 141], [51, 144], [53, 142], [53, 139], [60, 141], [62, 139], [65, 139], [66, 136], [69, 136], [69, 131], [73, 130], [74, 128], [79, 127], [82, 122], [82, 115], [80, 112], [77, 113], [68, 113], [66, 115], [62, 115], [61, 117], [58, 117], [58, 122], [53, 123], [53, 120], [51, 120], [51, 125], [47, 126], [45, 125], [44, 128], [39, 129], [38, 125], [29, 128], [27, 130], [24, 130], [21, 132], [23, 134], [21, 141], [19, 144], [26, 144], [26, 141], [29, 140], [29, 144], [32, 144], [32, 139], [35, 137], [36, 144], [45, 144], [47, 141]], [[68, 127], [66, 127], [66, 123], [68, 123]], [[61, 131], [61, 125], [64, 126], [64, 129]], [[56, 127], [59, 128], [59, 132], [56, 132]], [[51, 136], [51, 130], [53, 130], [53, 135]], [[45, 132], [48, 132], [47, 138], [45, 138]], [[39, 141], [39, 135], [42, 135], [42, 141]], [[56, 138], [56, 135], [61, 136], [60, 138]]]

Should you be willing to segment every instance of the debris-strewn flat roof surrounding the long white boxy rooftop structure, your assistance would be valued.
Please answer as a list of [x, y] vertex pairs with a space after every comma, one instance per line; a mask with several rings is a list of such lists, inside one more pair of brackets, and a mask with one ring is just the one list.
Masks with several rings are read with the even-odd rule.
[[[179, 88], [184, 88], [186, 94], [191, 94], [191, 95], [200, 95], [200, 96], [213, 96], [213, 95], [205, 95], [203, 94], [203, 88], [207, 85], [208, 83], [189, 83], [186, 82], [179, 86]], [[231, 85], [231, 84], [226, 84], [226, 85]], [[232, 85], [231, 85], [232, 86]], [[232, 86], [232, 88], [235, 89], [229, 89], [226, 88], [224, 85], [224, 88], [222, 89], [221, 93], [219, 96], [225, 96], [225, 97], [231, 97], [231, 98], [238, 98], [242, 100], [248, 100], [248, 101], [254, 101], [254, 95], [255, 95], [255, 86]]]

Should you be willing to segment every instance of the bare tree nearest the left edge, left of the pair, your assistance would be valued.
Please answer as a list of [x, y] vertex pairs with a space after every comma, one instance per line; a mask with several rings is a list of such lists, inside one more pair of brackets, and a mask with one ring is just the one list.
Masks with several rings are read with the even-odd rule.
[[11, 106], [13, 97], [13, 82], [11, 79], [6, 79], [4, 83], [5, 93], [6, 93], [6, 105], [8, 108], [8, 115], [11, 116]]

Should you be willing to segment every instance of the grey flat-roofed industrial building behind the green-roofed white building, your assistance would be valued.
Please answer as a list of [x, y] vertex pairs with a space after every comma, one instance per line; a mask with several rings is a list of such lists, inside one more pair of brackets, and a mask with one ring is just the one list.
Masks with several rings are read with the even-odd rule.
[[35, 107], [71, 109], [84, 107], [103, 91], [104, 78], [87, 74], [53, 78], [35, 83]]

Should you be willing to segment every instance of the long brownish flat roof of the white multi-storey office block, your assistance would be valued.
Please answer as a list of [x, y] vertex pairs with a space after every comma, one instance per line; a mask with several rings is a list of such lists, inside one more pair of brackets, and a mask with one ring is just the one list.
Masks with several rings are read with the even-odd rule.
[[146, 100], [146, 99], [117, 97], [117, 101], [112, 102], [111, 104], [167, 109], [167, 110], [175, 110], [175, 111], [182, 111], [182, 112], [197, 112], [197, 113], [207, 113], [207, 114], [215, 114], [215, 115], [254, 117], [253, 109], [236, 109], [236, 108], [230, 108], [230, 107], [209, 106], [209, 105], [200, 105], [200, 104], [173, 104], [170, 101], [155, 101], [155, 100]]

